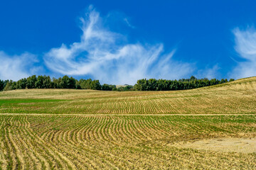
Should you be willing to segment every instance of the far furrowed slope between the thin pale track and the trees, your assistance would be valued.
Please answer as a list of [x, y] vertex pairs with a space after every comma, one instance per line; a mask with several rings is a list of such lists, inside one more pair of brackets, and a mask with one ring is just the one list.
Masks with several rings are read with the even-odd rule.
[[[3, 100], [16, 99], [14, 103]], [[23, 101], [24, 98], [38, 100]], [[44, 102], [40, 100], [43, 98]], [[48, 101], [47, 101], [48, 100]], [[2, 104], [1, 104], [2, 101]], [[47, 102], [46, 102], [47, 101]], [[256, 78], [186, 91], [30, 89], [0, 93], [0, 113], [256, 113]]]

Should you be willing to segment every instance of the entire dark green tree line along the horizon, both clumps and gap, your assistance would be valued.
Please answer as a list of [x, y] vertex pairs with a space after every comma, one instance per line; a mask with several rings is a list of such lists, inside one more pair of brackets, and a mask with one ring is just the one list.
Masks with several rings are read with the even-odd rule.
[[[234, 81], [230, 79], [229, 81]], [[59, 77], [51, 79], [49, 76], [33, 75], [28, 78], [19, 79], [18, 81], [0, 80], [0, 91], [14, 89], [92, 89], [102, 91], [171, 91], [183, 89], [195, 89], [203, 86], [223, 84], [228, 82], [227, 79], [190, 79], [166, 80], [166, 79], [139, 79], [134, 86], [120, 86], [117, 88], [111, 84], [100, 84], [99, 80], [92, 79], [74, 79], [73, 77]]]

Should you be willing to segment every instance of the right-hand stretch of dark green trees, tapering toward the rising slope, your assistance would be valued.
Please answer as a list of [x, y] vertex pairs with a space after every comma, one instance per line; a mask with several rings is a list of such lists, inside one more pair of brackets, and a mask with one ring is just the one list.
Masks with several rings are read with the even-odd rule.
[[[234, 81], [234, 79], [230, 79], [230, 81]], [[190, 79], [179, 80], [140, 79], [137, 81], [137, 84], [134, 85], [134, 89], [137, 91], [174, 91], [195, 89], [203, 86], [223, 84], [226, 82], [228, 82], [228, 79], [196, 79], [196, 77], [193, 76]]]

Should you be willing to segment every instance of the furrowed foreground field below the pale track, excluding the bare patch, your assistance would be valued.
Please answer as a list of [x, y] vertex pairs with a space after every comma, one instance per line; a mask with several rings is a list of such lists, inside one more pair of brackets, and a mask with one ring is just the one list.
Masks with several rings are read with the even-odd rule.
[[255, 153], [171, 143], [255, 137], [255, 115], [1, 115], [1, 169], [256, 169]]

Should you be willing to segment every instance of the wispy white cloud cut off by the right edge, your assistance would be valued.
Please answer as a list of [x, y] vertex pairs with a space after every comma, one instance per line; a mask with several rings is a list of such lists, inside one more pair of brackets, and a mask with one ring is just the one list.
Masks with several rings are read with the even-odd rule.
[[245, 60], [244, 62], [238, 62], [231, 73], [235, 79], [243, 77], [256, 76], [256, 30], [255, 28], [247, 28], [241, 30], [235, 28], [233, 30], [235, 35], [235, 50], [240, 57]]

